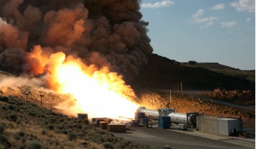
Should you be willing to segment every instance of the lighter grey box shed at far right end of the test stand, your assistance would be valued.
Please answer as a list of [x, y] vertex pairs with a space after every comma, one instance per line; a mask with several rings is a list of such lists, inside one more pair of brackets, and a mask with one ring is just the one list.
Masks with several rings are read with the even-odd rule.
[[239, 119], [218, 118], [219, 134], [220, 135], [235, 135], [240, 131]]

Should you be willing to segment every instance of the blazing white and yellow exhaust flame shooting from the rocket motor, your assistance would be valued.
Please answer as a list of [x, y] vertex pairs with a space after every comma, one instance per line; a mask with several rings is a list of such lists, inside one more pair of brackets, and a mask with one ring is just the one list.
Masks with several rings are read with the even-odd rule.
[[[37, 53], [38, 49], [39, 47]], [[34, 54], [30, 56], [33, 57]], [[45, 65], [42, 67], [44, 71], [47, 69], [45, 80], [50, 88], [58, 93], [74, 95], [76, 107], [70, 109], [82, 109], [89, 117], [134, 117], [134, 112], [139, 106], [130, 100], [136, 95], [117, 73], [109, 72], [105, 67], [93, 71], [89, 76], [87, 71], [91, 70], [91, 67], [72, 56], [66, 58], [62, 52], [52, 54], [50, 59], [44, 59], [43, 56], [40, 59], [41, 64]], [[129, 94], [134, 97], [125, 95], [125, 92], [132, 92]], [[76, 110], [72, 113], [76, 113]]]

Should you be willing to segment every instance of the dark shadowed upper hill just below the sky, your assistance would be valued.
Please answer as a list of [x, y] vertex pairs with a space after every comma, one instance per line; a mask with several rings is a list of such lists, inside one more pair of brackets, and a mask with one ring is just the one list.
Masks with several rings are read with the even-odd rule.
[[152, 54], [148, 65], [130, 82], [134, 88], [184, 90], [242, 89], [255, 91], [255, 71], [220, 65], [216, 62], [185, 62], [169, 60]]

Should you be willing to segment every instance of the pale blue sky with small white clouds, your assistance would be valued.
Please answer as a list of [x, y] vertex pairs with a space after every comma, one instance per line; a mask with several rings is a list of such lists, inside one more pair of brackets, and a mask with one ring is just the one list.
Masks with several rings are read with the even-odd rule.
[[142, 0], [153, 53], [255, 69], [255, 0]]

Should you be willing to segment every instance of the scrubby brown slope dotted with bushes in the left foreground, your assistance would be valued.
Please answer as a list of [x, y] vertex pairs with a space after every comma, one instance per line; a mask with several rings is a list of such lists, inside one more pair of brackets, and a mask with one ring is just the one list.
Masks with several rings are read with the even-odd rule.
[[0, 148], [149, 148], [14, 96], [0, 97]]

